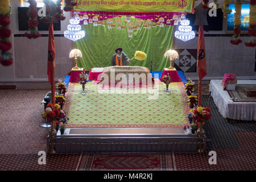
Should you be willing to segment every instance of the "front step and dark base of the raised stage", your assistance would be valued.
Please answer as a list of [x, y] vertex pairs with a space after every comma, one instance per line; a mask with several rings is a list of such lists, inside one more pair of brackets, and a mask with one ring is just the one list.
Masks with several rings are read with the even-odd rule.
[[49, 153], [79, 152], [204, 152], [206, 137], [186, 134], [181, 128], [66, 129], [47, 138]]

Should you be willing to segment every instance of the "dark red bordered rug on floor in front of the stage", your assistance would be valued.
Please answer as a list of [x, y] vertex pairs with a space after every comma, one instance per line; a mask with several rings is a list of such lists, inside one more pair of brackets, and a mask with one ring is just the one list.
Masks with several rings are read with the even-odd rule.
[[103, 155], [83, 154], [79, 171], [154, 170], [173, 171], [172, 154]]

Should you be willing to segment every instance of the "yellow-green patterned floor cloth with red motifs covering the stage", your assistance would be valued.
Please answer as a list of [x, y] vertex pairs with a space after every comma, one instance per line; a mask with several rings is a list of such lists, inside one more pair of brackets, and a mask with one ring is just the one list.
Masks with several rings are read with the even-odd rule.
[[183, 127], [189, 111], [183, 82], [171, 83], [168, 95], [165, 84], [156, 85], [150, 91], [102, 90], [88, 82], [88, 92], [81, 93], [80, 84], [69, 83], [67, 127]]

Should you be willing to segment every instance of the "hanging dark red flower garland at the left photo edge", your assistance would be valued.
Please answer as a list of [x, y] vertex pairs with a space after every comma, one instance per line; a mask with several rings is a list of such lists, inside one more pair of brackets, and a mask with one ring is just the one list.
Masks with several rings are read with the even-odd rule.
[[11, 49], [10, 24], [10, 6], [8, 0], [0, 1], [0, 63], [4, 66], [13, 64], [13, 55], [9, 52]]

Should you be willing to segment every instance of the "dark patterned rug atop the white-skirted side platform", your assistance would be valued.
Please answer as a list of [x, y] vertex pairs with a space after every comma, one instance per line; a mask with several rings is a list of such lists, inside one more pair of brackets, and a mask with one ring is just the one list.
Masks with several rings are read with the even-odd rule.
[[256, 102], [256, 97], [247, 97], [245, 88], [256, 88], [256, 85], [236, 85], [236, 90], [228, 90], [229, 96], [234, 102]]

